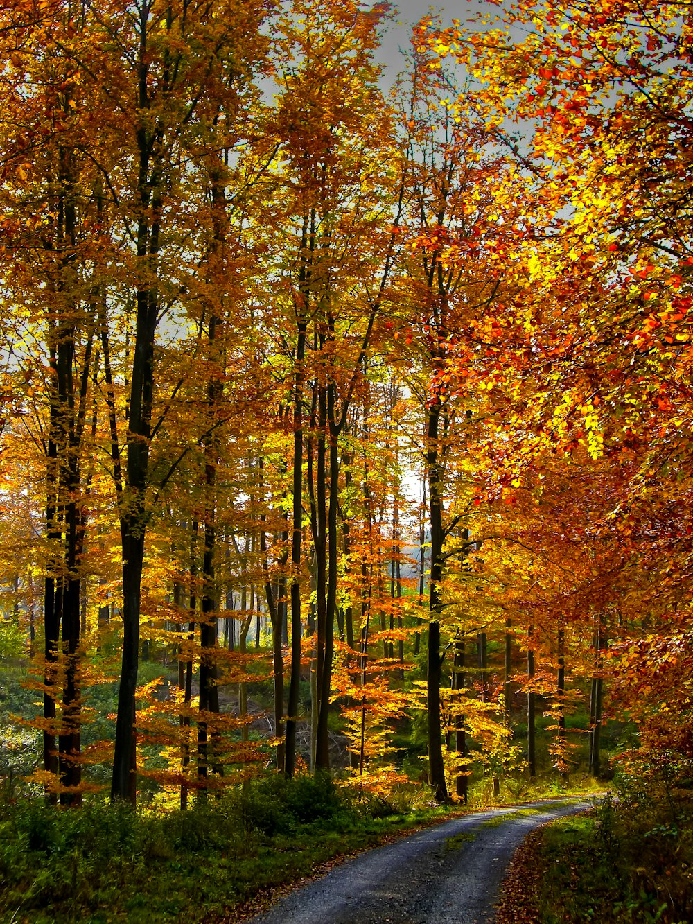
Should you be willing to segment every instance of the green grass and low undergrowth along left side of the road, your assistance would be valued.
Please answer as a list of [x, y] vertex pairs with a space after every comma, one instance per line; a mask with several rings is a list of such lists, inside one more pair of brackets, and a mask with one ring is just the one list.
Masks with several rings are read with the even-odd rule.
[[258, 894], [298, 881], [333, 857], [444, 817], [383, 814], [327, 779], [279, 777], [209, 806], [163, 817], [91, 802], [0, 806], [0, 920], [128, 924], [228, 920]]

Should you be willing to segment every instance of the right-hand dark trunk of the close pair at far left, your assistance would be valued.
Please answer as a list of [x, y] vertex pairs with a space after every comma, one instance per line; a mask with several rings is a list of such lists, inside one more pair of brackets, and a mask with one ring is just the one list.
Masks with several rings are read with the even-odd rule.
[[[70, 109], [65, 102], [66, 117]], [[87, 416], [92, 370], [93, 324], [85, 329], [87, 340], [81, 358], [79, 388], [75, 382], [76, 332], [79, 314], [79, 279], [75, 265], [77, 212], [73, 152], [61, 147], [58, 153], [59, 189], [55, 201], [55, 283], [52, 285], [54, 314], [48, 322], [52, 376], [49, 384], [50, 418], [46, 467], [46, 531], [51, 543], [48, 573], [44, 585], [46, 690], [44, 717], [55, 719], [55, 667], [58, 652], [62, 660], [62, 717], [57, 755], [55, 737], [48, 725], [44, 731], [44, 768], [59, 772], [63, 788], [61, 805], [81, 801], [79, 691], [79, 638], [81, 627], [80, 568], [86, 529], [86, 514], [79, 502], [82, 489], [80, 452]], [[96, 302], [86, 306], [91, 317]], [[62, 546], [62, 548], [60, 548]]]

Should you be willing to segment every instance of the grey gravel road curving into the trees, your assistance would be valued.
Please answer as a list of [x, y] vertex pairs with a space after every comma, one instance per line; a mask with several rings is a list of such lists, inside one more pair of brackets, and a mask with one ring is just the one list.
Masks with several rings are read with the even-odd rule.
[[481, 924], [517, 846], [544, 821], [589, 801], [494, 808], [346, 860], [252, 918], [253, 924]]

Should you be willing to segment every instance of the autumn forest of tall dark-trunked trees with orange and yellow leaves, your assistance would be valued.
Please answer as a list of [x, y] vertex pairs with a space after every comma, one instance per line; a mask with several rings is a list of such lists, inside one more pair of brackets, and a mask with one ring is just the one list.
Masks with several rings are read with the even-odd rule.
[[693, 14], [486, 6], [3, 4], [4, 801], [615, 777], [687, 893]]

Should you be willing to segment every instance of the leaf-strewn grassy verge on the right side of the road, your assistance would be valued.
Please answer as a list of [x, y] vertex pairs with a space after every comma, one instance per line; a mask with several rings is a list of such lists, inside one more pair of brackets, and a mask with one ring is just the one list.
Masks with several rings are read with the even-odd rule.
[[614, 791], [590, 814], [529, 835], [505, 881], [498, 924], [693, 919], [689, 789], [652, 773], [618, 779]]

